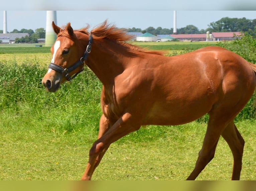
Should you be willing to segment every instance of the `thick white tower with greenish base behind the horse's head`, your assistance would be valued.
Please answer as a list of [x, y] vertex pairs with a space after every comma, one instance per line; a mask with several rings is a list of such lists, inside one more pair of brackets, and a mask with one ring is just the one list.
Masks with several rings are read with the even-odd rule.
[[57, 35], [53, 31], [51, 26], [52, 21], [55, 25], [57, 24], [57, 14], [56, 11], [46, 11], [46, 29], [45, 29], [45, 46], [50, 47], [54, 44]]

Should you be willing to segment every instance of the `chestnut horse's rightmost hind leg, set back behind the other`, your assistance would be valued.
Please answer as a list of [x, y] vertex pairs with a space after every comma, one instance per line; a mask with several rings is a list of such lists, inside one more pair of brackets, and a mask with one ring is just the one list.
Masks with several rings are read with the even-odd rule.
[[221, 135], [227, 141], [234, 157], [232, 180], [239, 180], [242, 169], [244, 139], [237, 130], [234, 121], [227, 125]]

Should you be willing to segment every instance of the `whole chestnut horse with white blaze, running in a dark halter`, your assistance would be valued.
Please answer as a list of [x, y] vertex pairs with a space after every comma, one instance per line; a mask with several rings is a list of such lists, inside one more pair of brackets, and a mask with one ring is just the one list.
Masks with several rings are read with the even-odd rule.
[[[60, 28], [42, 84], [49, 92], [87, 65], [102, 82], [100, 129], [82, 180], [90, 180], [110, 144], [142, 125], [178, 125], [209, 114], [194, 170], [195, 180], [213, 159], [220, 136], [233, 157], [232, 180], [239, 180], [244, 139], [234, 123], [256, 86], [256, 67], [220, 47], [166, 57], [126, 43], [131, 36], [105, 21], [88, 32]], [[75, 63], [75, 64], [74, 64]]]

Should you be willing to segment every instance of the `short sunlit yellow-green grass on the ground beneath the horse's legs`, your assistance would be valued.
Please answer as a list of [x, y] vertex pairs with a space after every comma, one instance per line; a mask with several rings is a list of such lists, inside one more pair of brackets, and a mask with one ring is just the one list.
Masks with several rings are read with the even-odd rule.
[[[8, 120], [8, 118], [5, 118]], [[54, 121], [52, 121], [54, 123]], [[1, 128], [1, 180], [78, 180], [96, 132], [92, 124], [65, 133], [15, 120], [22, 128]], [[29, 123], [31, 125], [29, 125]], [[89, 126], [89, 127], [88, 127]], [[90, 127], [91, 126], [91, 127]], [[255, 179], [255, 123], [238, 123], [245, 140], [242, 180]], [[113, 143], [96, 169], [94, 180], [184, 180], [193, 170], [206, 124], [149, 126]], [[232, 154], [221, 138], [215, 158], [198, 180], [229, 180]]]

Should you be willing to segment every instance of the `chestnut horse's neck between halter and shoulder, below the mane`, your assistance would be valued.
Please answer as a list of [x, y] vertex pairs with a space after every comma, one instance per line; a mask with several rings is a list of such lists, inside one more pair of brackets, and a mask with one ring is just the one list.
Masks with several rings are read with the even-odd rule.
[[125, 61], [123, 59], [124, 56], [118, 53], [117, 49], [95, 42], [88, 56], [87, 66], [104, 86], [108, 86], [114, 82], [116, 76], [124, 71]]

